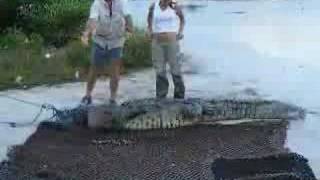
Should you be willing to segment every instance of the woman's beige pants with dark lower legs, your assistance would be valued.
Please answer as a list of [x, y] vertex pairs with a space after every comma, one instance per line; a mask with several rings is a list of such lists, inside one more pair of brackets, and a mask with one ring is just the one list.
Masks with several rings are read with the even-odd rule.
[[174, 97], [184, 98], [185, 86], [181, 75], [181, 64], [178, 62], [178, 43], [152, 41], [152, 61], [157, 75], [156, 93], [158, 98], [165, 98], [168, 94], [167, 63], [174, 83]]

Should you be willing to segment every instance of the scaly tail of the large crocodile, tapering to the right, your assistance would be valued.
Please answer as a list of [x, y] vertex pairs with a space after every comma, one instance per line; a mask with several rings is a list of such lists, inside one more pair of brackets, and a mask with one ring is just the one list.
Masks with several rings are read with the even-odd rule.
[[304, 119], [302, 108], [279, 101], [210, 100], [202, 105], [205, 120]]

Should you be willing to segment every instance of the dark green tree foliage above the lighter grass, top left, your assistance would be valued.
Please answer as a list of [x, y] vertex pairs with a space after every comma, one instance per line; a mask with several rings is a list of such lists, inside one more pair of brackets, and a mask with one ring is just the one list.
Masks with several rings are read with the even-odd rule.
[[0, 0], [0, 30], [16, 26], [46, 45], [63, 46], [77, 38], [89, 15], [92, 0]]

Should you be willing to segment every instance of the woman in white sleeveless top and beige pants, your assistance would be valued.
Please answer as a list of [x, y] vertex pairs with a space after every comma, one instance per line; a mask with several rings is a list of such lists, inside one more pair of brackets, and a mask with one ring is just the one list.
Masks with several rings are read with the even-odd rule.
[[174, 83], [174, 98], [185, 97], [185, 85], [178, 62], [178, 41], [183, 37], [185, 18], [172, 0], [156, 0], [148, 12], [148, 34], [152, 39], [152, 61], [156, 71], [156, 97], [166, 98], [169, 89], [166, 65]]

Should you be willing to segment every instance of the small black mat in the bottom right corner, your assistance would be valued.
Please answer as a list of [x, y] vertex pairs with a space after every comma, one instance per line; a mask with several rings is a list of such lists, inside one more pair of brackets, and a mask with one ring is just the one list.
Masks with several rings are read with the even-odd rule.
[[[245, 168], [239, 168], [245, 167]], [[215, 179], [316, 180], [308, 160], [296, 153], [259, 158], [219, 158], [212, 164]]]

